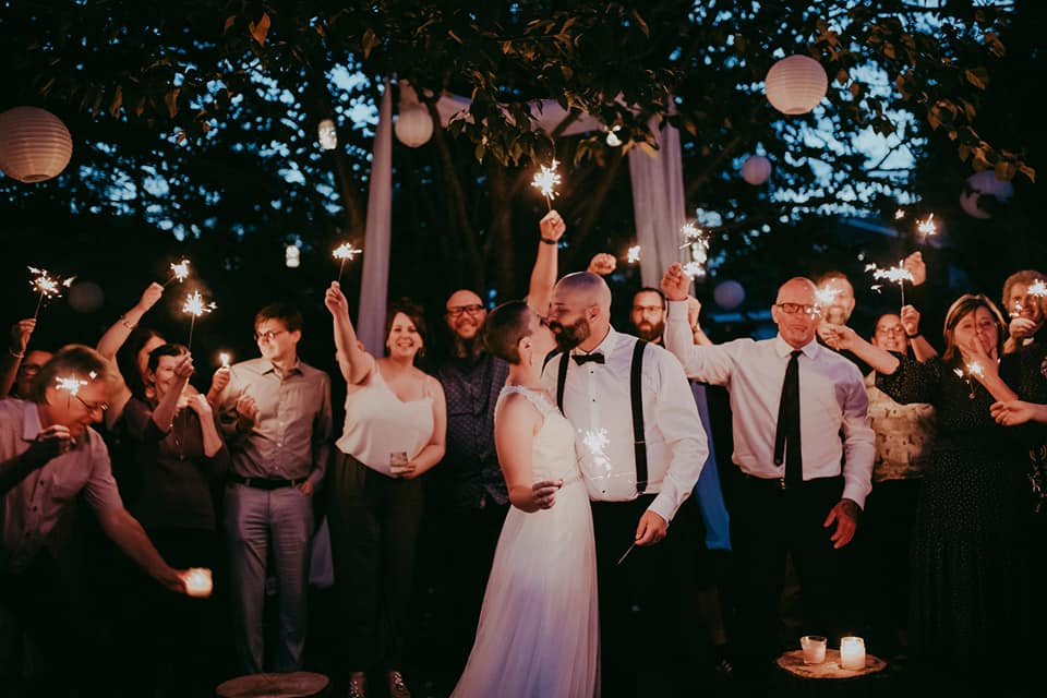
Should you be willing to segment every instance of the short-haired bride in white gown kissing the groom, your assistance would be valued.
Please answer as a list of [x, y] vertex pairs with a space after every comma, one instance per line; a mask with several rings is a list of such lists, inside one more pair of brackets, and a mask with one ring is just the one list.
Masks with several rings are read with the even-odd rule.
[[524, 301], [494, 309], [484, 340], [509, 362], [494, 438], [513, 508], [452, 696], [592, 698], [600, 690], [592, 516], [574, 428], [541, 388], [542, 360], [555, 341]]

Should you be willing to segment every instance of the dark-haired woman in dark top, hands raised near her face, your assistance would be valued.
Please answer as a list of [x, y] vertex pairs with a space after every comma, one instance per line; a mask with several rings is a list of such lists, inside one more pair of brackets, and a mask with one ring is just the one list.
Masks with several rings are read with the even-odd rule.
[[[189, 385], [193, 362], [181, 345], [149, 352], [152, 397], [135, 395], [124, 408], [125, 433], [142, 489], [130, 509], [165, 559], [179, 567], [225, 568], [214, 494], [229, 455], [210, 404]], [[224, 579], [222, 579], [224, 581]], [[213, 600], [180, 599], [142, 589], [137, 613], [137, 689], [164, 686], [204, 695], [219, 677], [224, 609]]]

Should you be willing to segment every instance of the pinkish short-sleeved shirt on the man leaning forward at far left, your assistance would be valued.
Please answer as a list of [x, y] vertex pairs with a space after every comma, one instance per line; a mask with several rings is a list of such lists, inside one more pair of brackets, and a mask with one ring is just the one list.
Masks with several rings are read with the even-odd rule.
[[[0, 400], [0, 461], [25, 453], [41, 429], [35, 402]], [[123, 507], [109, 452], [93, 429], [69, 453], [31, 472], [0, 497], [0, 571], [28, 567], [81, 491], [96, 512]]]

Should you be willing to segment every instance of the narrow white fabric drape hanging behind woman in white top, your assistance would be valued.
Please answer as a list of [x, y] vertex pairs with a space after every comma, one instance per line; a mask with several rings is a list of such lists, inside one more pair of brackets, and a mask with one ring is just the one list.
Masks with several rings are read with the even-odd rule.
[[393, 242], [393, 93], [389, 81], [378, 107], [368, 191], [368, 224], [360, 279], [357, 336], [375, 357], [385, 352], [385, 309], [389, 286], [389, 246]]

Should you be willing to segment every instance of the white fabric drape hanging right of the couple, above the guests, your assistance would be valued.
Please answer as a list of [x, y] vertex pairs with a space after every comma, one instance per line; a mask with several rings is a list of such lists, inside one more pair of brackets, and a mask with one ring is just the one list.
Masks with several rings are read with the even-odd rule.
[[687, 220], [684, 200], [684, 164], [679, 132], [665, 124], [651, 131], [658, 135], [659, 149], [649, 155], [642, 148], [629, 151], [629, 177], [633, 180], [633, 212], [636, 242], [640, 245], [640, 280], [658, 288], [662, 274], [681, 261], [679, 229]]

